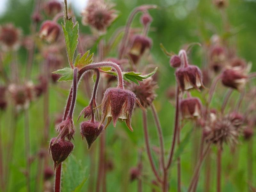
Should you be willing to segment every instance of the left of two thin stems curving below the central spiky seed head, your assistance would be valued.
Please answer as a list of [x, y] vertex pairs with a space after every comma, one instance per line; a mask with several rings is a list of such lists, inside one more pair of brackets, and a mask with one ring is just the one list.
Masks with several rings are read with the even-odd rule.
[[153, 161], [152, 154], [150, 152], [150, 146], [149, 146], [149, 138], [148, 138], [148, 124], [147, 124], [147, 112], [142, 110], [142, 118], [143, 118], [143, 129], [144, 129], [144, 137], [145, 137], [145, 144], [146, 144], [146, 150], [147, 150], [147, 155], [149, 159], [150, 166], [152, 168], [152, 171], [154, 172], [156, 179], [162, 183], [160, 176], [158, 175], [156, 171], [156, 166]]

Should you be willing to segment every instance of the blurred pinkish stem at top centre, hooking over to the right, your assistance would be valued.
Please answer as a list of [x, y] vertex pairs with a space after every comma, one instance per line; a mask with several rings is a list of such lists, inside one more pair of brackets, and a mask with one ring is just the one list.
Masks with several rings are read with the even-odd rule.
[[141, 5], [139, 7], [136, 7], [135, 9], [133, 9], [133, 11], [131, 12], [130, 16], [128, 17], [128, 20], [125, 25], [124, 37], [123, 37], [123, 40], [121, 42], [121, 46], [119, 49], [118, 59], [122, 59], [124, 56], [125, 47], [126, 47], [126, 44], [128, 41], [130, 30], [131, 30], [132, 20], [134, 19], [135, 15], [140, 11], [144, 11], [144, 10], [148, 10], [148, 9], [155, 9], [156, 7], [157, 7], [156, 5]]

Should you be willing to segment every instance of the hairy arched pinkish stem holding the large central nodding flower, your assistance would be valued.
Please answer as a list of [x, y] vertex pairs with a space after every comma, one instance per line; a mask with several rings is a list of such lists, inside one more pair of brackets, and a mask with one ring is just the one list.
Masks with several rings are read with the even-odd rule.
[[86, 65], [84, 68], [81, 68], [78, 72], [78, 80], [81, 76], [83, 76], [84, 72], [92, 69], [97, 69], [100, 67], [112, 67], [116, 70], [117, 76], [118, 76], [118, 88], [124, 89], [124, 82], [123, 82], [123, 74], [122, 70], [116, 63], [112, 61], [101, 61], [97, 63], [92, 63], [90, 65]]

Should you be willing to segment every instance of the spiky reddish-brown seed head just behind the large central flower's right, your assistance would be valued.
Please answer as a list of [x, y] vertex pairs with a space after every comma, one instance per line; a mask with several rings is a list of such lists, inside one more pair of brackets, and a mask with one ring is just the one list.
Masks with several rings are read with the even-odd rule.
[[158, 88], [157, 83], [152, 77], [140, 81], [139, 85], [131, 83], [127, 86], [127, 89], [135, 93], [144, 108], [149, 107], [156, 98], [156, 88]]

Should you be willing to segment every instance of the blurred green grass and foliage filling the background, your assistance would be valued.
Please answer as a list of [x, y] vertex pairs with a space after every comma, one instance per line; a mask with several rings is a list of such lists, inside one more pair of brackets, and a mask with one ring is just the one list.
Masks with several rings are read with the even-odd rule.
[[[75, 1], [75, 0], [74, 0]], [[129, 13], [136, 6], [141, 4], [157, 4], [159, 7], [156, 10], [150, 10], [150, 14], [153, 17], [153, 23], [151, 24], [151, 31], [148, 36], [153, 39], [152, 54], [156, 60], [156, 64], [159, 66], [159, 89], [157, 89], [158, 97], [155, 104], [159, 113], [160, 121], [163, 128], [165, 148], [169, 150], [171, 146], [171, 135], [173, 127], [174, 108], [168, 102], [165, 92], [170, 85], [175, 84], [174, 69], [169, 67], [169, 58], [161, 51], [159, 44], [163, 43], [168, 51], [178, 53], [179, 49], [184, 45], [191, 42], [207, 43], [213, 34], [219, 34], [221, 36], [229, 36], [223, 30], [223, 20], [221, 17], [221, 11], [218, 10], [210, 0], [114, 0], [116, 4], [116, 10], [119, 10], [119, 17], [108, 29], [106, 38], [110, 38], [116, 28], [124, 26]], [[0, 16], [0, 24], [14, 23], [15, 26], [22, 28], [23, 35], [29, 34], [30, 18], [33, 10], [34, 0], [8, 0], [6, 11]], [[233, 33], [229, 40], [236, 48], [238, 56], [244, 58], [247, 61], [252, 61], [252, 71], [256, 70], [256, 1], [249, 0], [230, 0], [226, 9], [228, 21], [231, 26], [231, 32]], [[90, 33], [90, 29], [81, 24], [80, 13], [76, 12], [77, 20], [80, 24], [80, 31], [83, 33]], [[137, 16], [133, 22], [133, 27], [140, 27], [139, 16]], [[25, 66], [26, 51], [21, 49], [19, 51], [20, 64]], [[190, 60], [197, 66], [202, 65], [202, 49], [195, 47], [193, 52], [189, 55]], [[115, 50], [111, 52], [115, 54]], [[110, 55], [111, 55], [110, 54]], [[38, 71], [38, 63], [33, 66], [32, 78], [36, 78]], [[68, 63], [67, 63], [68, 65]], [[56, 136], [54, 130], [54, 115], [56, 113], [62, 113], [62, 110], [66, 102], [66, 94], [60, 94], [56, 85], [52, 86], [50, 90], [50, 116], [51, 116], [51, 137]], [[68, 90], [67, 90], [68, 91]], [[200, 96], [198, 92], [192, 92], [195, 96]], [[83, 92], [79, 93], [83, 105], [78, 102], [75, 109], [75, 116], [78, 116], [82, 108], [88, 103], [88, 98], [85, 98]], [[42, 105], [43, 98], [34, 103], [30, 108], [30, 135], [31, 135], [31, 154], [36, 154], [40, 147], [41, 135], [43, 132], [43, 116]], [[221, 100], [213, 102], [217, 104], [216, 108], [220, 108]], [[80, 104], [80, 105], [79, 105]], [[133, 116], [132, 126], [134, 132], [131, 133], [124, 124], [118, 123], [116, 128], [109, 126], [107, 129], [107, 155], [106, 158], [113, 161], [114, 170], [108, 172], [107, 186], [108, 191], [136, 191], [137, 184], [132, 182], [129, 184], [129, 169], [135, 166], [138, 161], [138, 149], [144, 146], [144, 137], [142, 131], [141, 115], [140, 111], [136, 110]], [[1, 131], [2, 135], [7, 134], [5, 130], [10, 127], [12, 123], [12, 117], [10, 117], [11, 111], [7, 111], [6, 114], [1, 114]], [[149, 118], [149, 134], [151, 145], [158, 146], [157, 133], [154, 127], [151, 113], [148, 113]], [[3, 118], [4, 117], [4, 118]], [[14, 161], [11, 165], [11, 182], [10, 191], [26, 191], [25, 177], [22, 173], [22, 167], [25, 166], [24, 158], [24, 128], [23, 117], [18, 120], [17, 133], [15, 137], [14, 148]], [[76, 123], [78, 130], [78, 123]], [[191, 124], [186, 124], [184, 132], [187, 132], [191, 127]], [[185, 135], [185, 134], [184, 134]], [[4, 136], [4, 141], [7, 141], [13, 135]], [[182, 136], [183, 137], [183, 136]], [[65, 164], [73, 164], [75, 167], [73, 170], [65, 169], [63, 174], [63, 191], [71, 191], [68, 185], [77, 186], [84, 178], [89, 177], [90, 159], [88, 156], [87, 146], [84, 141], [81, 140], [79, 131], [76, 132], [74, 141], [74, 151], [72, 156], [68, 158]], [[182, 183], [183, 186], [188, 186], [190, 177], [192, 175], [193, 160], [191, 159], [191, 144], [186, 147], [181, 156], [182, 160]], [[98, 148], [98, 141], [94, 143], [94, 148]], [[223, 191], [245, 191], [247, 189], [246, 183], [246, 147], [240, 146], [239, 159], [232, 159], [230, 156], [230, 150], [227, 148], [223, 156], [223, 169], [224, 174], [222, 184], [224, 186]], [[8, 153], [8, 149], [4, 149], [5, 153]], [[214, 149], [213, 149], [214, 150]], [[94, 151], [98, 153], [98, 149]], [[213, 153], [214, 154], [214, 153]], [[255, 157], [255, 153], [253, 154]], [[156, 155], [154, 156], [156, 160]], [[215, 159], [215, 156], [212, 157]], [[97, 158], [96, 158], [97, 159]], [[148, 158], [143, 153], [144, 173], [148, 175], [148, 180], [145, 180], [144, 190], [150, 191], [150, 180], [153, 179], [151, 169], [148, 166]], [[239, 161], [237, 169], [229, 169], [234, 161]], [[73, 162], [73, 163], [72, 163]], [[79, 162], [79, 163], [78, 163]], [[212, 163], [215, 163], [214, 161]], [[79, 168], [81, 165], [82, 168]], [[76, 166], [77, 165], [77, 166]], [[95, 160], [94, 165], [97, 165]], [[67, 166], [68, 167], [68, 166]], [[215, 167], [215, 166], [214, 166]], [[232, 166], [231, 166], [232, 167]], [[256, 166], [255, 166], [256, 167]], [[94, 167], [95, 172], [97, 168]], [[72, 172], [73, 171], [73, 172]], [[37, 172], [37, 164], [32, 164], [31, 177], [35, 177]], [[172, 169], [170, 187], [171, 191], [176, 191], [176, 168]], [[71, 176], [73, 174], [73, 177]], [[213, 170], [212, 174], [216, 174]], [[73, 181], [77, 175], [82, 175], [79, 179]], [[95, 174], [96, 175], [96, 174]], [[214, 178], [214, 176], [213, 176]], [[256, 178], [254, 178], [256, 179]], [[65, 182], [64, 182], [65, 181]], [[76, 185], [74, 184], [76, 183]], [[31, 188], [33, 189], [37, 185], [35, 179], [31, 180]], [[85, 182], [84, 190], [88, 186], [88, 180]], [[198, 191], [203, 191], [204, 186], [204, 174], [201, 174]], [[212, 181], [212, 186], [215, 186], [215, 180]], [[184, 188], [186, 191], [186, 188]], [[215, 187], [212, 189], [215, 191]]]

